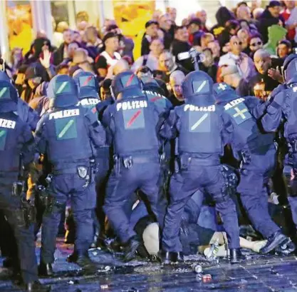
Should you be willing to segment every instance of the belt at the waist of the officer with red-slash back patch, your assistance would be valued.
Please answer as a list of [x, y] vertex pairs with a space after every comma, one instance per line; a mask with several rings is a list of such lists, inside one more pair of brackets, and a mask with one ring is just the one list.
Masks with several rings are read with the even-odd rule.
[[133, 155], [133, 156], [119, 156], [115, 154], [113, 156], [113, 172], [115, 174], [120, 173], [120, 169], [125, 167], [126, 169], [132, 168], [134, 163], [150, 163], [157, 161], [158, 156], [152, 154], [142, 154], [142, 155]]

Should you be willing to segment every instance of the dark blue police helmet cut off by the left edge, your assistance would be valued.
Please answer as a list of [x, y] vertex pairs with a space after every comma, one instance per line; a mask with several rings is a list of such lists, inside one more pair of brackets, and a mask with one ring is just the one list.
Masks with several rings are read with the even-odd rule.
[[17, 111], [19, 94], [10, 80], [0, 80], [0, 108], [5, 111]]

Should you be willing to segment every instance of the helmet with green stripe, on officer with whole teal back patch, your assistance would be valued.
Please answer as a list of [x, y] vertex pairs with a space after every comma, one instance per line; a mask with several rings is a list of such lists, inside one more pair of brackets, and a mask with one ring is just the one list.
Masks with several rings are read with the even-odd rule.
[[66, 108], [78, 104], [78, 87], [68, 75], [57, 75], [48, 84], [50, 107]]

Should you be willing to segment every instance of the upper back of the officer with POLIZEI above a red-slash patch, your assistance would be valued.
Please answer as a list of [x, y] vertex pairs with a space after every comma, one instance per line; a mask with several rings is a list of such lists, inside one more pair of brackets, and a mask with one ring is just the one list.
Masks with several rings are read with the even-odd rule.
[[160, 111], [137, 89], [136, 76], [123, 76], [119, 82], [125, 90], [113, 92], [115, 104], [108, 106], [103, 114], [103, 124], [113, 131], [114, 153], [119, 156], [139, 151], [157, 153], [156, 126]]

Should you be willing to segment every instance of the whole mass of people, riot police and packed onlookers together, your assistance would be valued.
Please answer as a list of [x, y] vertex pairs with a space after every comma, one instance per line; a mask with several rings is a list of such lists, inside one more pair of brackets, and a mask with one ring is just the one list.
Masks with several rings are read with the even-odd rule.
[[155, 11], [140, 56], [112, 20], [100, 34], [60, 23], [55, 46], [39, 32], [24, 56], [11, 52], [0, 248], [26, 291], [48, 291], [38, 274], [53, 276], [66, 213], [68, 261], [91, 273], [90, 246], [162, 263], [295, 250], [295, 2], [221, 6], [212, 28], [203, 10], [181, 26], [176, 9]]

